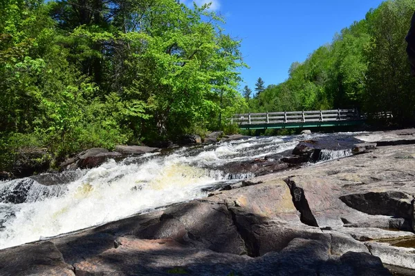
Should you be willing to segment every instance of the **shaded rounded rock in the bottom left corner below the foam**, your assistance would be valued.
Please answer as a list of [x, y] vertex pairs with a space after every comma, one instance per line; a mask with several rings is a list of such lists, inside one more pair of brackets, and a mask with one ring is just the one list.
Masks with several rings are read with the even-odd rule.
[[73, 267], [64, 262], [62, 254], [51, 242], [1, 250], [0, 274], [3, 276], [75, 276]]

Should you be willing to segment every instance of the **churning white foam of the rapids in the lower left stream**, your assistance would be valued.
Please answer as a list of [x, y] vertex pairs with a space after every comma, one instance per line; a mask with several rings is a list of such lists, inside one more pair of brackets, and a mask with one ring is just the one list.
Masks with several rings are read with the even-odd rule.
[[172, 155], [141, 165], [109, 161], [68, 184], [61, 197], [19, 204], [14, 217], [3, 223], [0, 248], [200, 198], [201, 188], [225, 177], [182, 164], [181, 158]]

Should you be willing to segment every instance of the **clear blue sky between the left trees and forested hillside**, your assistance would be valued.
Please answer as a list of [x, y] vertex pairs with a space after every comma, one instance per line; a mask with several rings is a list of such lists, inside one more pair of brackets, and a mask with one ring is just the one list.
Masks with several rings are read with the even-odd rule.
[[[244, 83], [255, 87], [258, 77], [266, 86], [288, 77], [294, 61], [304, 61], [318, 47], [330, 43], [336, 32], [365, 18], [382, 0], [196, 0], [212, 1], [225, 16], [226, 32], [242, 39], [241, 52], [250, 69], [242, 70]], [[187, 2], [190, 2], [188, 0]]]

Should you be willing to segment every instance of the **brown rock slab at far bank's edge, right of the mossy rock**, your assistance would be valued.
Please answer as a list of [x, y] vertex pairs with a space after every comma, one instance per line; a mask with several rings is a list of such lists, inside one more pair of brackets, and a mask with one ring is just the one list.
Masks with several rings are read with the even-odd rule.
[[76, 170], [77, 168], [95, 168], [101, 166], [108, 159], [121, 158], [120, 152], [109, 152], [105, 148], [91, 148], [80, 152], [77, 156], [64, 161], [60, 167], [64, 170]]

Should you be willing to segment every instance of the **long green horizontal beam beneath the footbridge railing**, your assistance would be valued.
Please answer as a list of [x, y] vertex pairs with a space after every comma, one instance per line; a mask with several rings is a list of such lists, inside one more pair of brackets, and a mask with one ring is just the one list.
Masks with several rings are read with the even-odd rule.
[[277, 124], [243, 124], [241, 130], [279, 129], [279, 128], [322, 128], [329, 126], [358, 126], [365, 121], [310, 121], [303, 123], [277, 123]]

